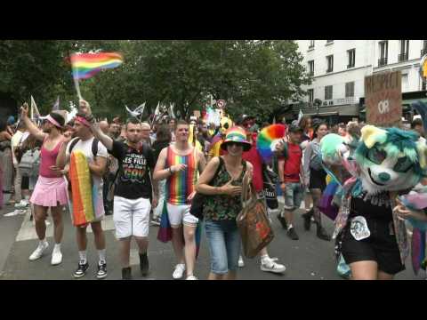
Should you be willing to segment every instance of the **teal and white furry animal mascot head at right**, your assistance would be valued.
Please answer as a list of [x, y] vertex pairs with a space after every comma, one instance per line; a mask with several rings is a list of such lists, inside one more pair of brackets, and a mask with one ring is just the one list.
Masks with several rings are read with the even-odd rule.
[[368, 194], [413, 188], [427, 176], [427, 146], [415, 132], [366, 125], [359, 141], [328, 134], [320, 148], [325, 164], [342, 164]]

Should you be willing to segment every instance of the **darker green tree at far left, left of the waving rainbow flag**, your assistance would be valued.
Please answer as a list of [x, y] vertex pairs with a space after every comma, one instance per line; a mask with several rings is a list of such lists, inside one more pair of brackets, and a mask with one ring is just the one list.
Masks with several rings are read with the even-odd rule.
[[0, 41], [0, 91], [18, 103], [32, 94], [40, 111], [46, 112], [57, 95], [72, 90], [65, 59], [69, 46], [68, 41]]

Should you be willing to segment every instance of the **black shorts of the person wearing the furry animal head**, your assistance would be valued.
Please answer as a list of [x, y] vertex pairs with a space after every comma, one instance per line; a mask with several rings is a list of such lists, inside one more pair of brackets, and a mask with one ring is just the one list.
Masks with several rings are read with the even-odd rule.
[[342, 238], [342, 256], [347, 264], [358, 261], [375, 261], [378, 269], [396, 275], [405, 270], [400, 260], [399, 246], [392, 221], [368, 220], [371, 236], [356, 240], [350, 233], [350, 218]]

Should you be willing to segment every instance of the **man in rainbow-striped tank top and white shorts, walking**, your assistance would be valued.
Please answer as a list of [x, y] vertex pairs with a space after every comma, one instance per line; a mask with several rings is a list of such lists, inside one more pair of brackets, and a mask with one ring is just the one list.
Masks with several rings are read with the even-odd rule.
[[163, 242], [172, 240], [178, 260], [173, 278], [181, 278], [187, 270], [187, 280], [197, 280], [194, 265], [200, 241], [197, 232], [199, 221], [189, 210], [196, 195], [197, 172], [205, 169], [205, 156], [189, 144], [189, 124], [185, 121], [177, 122], [175, 136], [175, 143], [160, 152], [153, 174], [154, 181], [166, 179], [166, 205], [157, 239]]

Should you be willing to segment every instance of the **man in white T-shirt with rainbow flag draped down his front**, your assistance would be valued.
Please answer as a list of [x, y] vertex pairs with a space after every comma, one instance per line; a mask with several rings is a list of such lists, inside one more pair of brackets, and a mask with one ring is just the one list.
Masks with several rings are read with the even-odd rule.
[[86, 228], [91, 224], [95, 247], [100, 258], [96, 276], [101, 279], [107, 276], [105, 236], [101, 226], [101, 220], [105, 215], [101, 177], [107, 169], [108, 151], [99, 140], [93, 137], [87, 116], [90, 109], [85, 100], [80, 101], [80, 111], [74, 120], [77, 138], [60, 148], [57, 166], [64, 168], [69, 164], [68, 176], [72, 191], [69, 207], [73, 224], [76, 226], [79, 255], [74, 277], [85, 276], [89, 268], [86, 256]]

